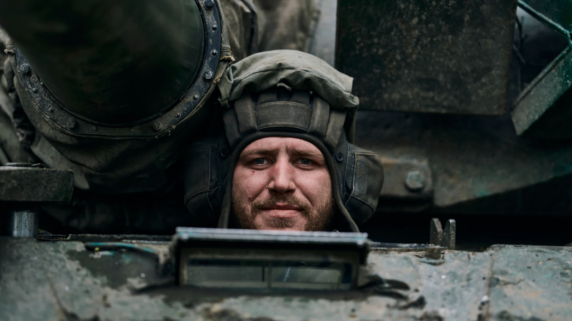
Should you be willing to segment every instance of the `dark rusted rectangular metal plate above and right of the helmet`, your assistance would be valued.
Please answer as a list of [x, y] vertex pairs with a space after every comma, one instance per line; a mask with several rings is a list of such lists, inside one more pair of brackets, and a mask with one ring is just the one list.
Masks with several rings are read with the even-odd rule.
[[360, 108], [502, 115], [516, 0], [340, 0], [336, 68]]

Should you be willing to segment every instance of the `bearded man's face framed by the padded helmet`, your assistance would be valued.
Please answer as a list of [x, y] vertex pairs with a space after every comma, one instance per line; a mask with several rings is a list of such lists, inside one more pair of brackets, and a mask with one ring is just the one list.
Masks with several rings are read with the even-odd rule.
[[243, 229], [324, 230], [332, 182], [320, 150], [292, 137], [266, 137], [240, 154], [232, 204]]

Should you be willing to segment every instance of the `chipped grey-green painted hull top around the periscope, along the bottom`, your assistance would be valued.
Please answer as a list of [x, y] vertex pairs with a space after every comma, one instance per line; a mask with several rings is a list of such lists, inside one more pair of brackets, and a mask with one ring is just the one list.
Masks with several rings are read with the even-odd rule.
[[[149, 246], [149, 241], [144, 241]], [[158, 242], [154, 248], [166, 250]], [[376, 251], [367, 270], [389, 289], [245, 292], [174, 286], [156, 259], [77, 241], [0, 237], [0, 319], [569, 320], [572, 248], [493, 246]]]

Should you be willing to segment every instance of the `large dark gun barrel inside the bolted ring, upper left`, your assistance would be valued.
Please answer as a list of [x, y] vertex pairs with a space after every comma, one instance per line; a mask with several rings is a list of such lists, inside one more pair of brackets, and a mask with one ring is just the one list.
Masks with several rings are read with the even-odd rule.
[[178, 101], [205, 41], [194, 0], [0, 0], [0, 25], [64, 107], [114, 124]]

